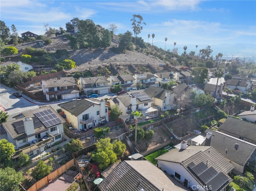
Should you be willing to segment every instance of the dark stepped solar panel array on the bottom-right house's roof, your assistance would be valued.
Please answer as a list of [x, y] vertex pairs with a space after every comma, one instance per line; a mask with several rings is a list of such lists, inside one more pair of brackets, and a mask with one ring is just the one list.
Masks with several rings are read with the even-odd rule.
[[211, 191], [217, 191], [228, 181], [228, 176], [224, 173], [218, 173], [213, 167], [208, 168], [203, 162], [195, 165], [193, 162], [188, 167], [203, 181]]

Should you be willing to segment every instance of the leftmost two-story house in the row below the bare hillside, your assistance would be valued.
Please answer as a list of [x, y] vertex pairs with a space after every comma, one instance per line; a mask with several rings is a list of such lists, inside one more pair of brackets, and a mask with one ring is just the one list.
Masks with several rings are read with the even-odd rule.
[[58, 100], [79, 97], [80, 91], [73, 77], [42, 80], [43, 93], [46, 100]]

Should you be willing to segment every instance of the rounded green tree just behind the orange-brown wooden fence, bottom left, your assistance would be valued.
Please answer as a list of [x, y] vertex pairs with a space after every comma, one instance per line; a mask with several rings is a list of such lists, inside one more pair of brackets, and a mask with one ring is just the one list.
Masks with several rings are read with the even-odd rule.
[[38, 165], [34, 168], [31, 173], [31, 176], [36, 179], [40, 180], [43, 177], [47, 176], [52, 171], [52, 167], [44, 163], [41, 159], [38, 162]]

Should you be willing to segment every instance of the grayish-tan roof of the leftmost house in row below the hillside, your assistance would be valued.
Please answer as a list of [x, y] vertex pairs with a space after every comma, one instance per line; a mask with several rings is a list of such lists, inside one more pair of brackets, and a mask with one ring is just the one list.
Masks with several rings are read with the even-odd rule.
[[45, 88], [50, 88], [50, 87], [66, 87], [66, 86], [76, 86], [77, 83], [73, 77], [61, 77], [59, 79], [50, 79], [44, 81]]

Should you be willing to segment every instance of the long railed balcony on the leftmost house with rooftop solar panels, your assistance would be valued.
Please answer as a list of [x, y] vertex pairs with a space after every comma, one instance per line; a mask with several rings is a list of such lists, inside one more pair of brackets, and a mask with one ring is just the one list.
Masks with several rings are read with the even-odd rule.
[[45, 146], [51, 142], [54, 142], [54, 136], [52, 136], [51, 134], [48, 134], [48, 133], [46, 133], [46, 134], [47, 134], [47, 138], [39, 139], [36, 144], [30, 145], [30, 146], [26, 145], [25, 148], [22, 148], [22, 149], [16, 151], [13, 154], [12, 159], [18, 158], [22, 152], [24, 154], [27, 154], [27, 153], [34, 151], [42, 146]]

